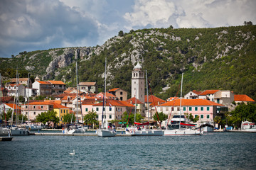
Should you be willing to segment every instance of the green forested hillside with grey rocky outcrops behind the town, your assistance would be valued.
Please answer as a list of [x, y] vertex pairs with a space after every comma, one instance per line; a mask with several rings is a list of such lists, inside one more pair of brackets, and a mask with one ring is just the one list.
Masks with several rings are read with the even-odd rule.
[[21, 52], [0, 58], [0, 67], [5, 78], [15, 77], [18, 67], [25, 75], [73, 86], [78, 60], [79, 81], [97, 81], [102, 90], [107, 57], [107, 89], [120, 87], [130, 93], [132, 69], [140, 62], [152, 92], [163, 99], [176, 95], [183, 72], [183, 94], [223, 89], [256, 100], [255, 37], [256, 26], [120, 31], [102, 46]]

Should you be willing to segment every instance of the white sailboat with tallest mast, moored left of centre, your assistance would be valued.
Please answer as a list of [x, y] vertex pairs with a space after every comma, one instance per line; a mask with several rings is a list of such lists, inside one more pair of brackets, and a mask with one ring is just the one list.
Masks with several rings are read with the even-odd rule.
[[[79, 119], [78, 119], [78, 62], [75, 63], [75, 69], [76, 69], [76, 85], [77, 85], [76, 120], [79, 123]], [[80, 100], [81, 100], [81, 98], [80, 98]], [[73, 119], [73, 115], [71, 118], [71, 129], [68, 130], [68, 128], [66, 128], [65, 129], [66, 134], [85, 133], [87, 131], [85, 128], [82, 128], [78, 125], [75, 125], [75, 128], [73, 128], [72, 119]]]

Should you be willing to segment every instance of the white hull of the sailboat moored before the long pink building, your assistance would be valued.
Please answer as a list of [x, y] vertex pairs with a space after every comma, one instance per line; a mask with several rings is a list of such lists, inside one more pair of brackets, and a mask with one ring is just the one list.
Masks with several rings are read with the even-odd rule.
[[164, 130], [164, 136], [190, 136], [203, 135], [200, 130]]

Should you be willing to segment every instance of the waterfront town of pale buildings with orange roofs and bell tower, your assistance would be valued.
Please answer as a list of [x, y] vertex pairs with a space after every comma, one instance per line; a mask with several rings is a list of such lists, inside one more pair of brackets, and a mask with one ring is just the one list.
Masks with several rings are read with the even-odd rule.
[[[208, 89], [189, 91], [182, 97], [172, 96], [164, 101], [149, 94], [147, 86], [145, 86], [145, 72], [139, 63], [131, 74], [132, 98], [127, 98], [127, 91], [122, 90], [122, 87], [98, 92], [97, 82], [80, 82], [77, 87], [67, 88], [63, 81], [41, 81], [36, 77], [35, 81], [31, 83], [29, 78], [11, 79], [5, 84], [5, 87], [1, 88], [2, 123], [10, 123], [10, 120], [4, 120], [4, 114], [14, 110], [14, 113], [18, 113], [18, 115], [26, 115], [27, 123], [40, 125], [41, 122], [39, 123], [37, 120], [38, 115], [54, 111], [58, 117], [58, 123], [50, 122], [48, 127], [63, 127], [70, 123], [65, 120], [65, 115], [73, 115], [73, 120], [75, 119], [73, 123], [88, 124], [90, 128], [99, 128], [102, 125], [104, 113], [107, 124], [120, 129], [127, 125], [124, 121], [127, 120], [130, 113], [139, 113], [142, 117], [136, 121], [139, 123], [149, 122], [151, 127], [166, 128], [170, 123], [169, 120], [173, 123], [175, 118], [182, 118], [181, 121], [185, 123], [184, 118], [186, 118], [196, 128], [203, 127], [207, 123], [213, 129], [221, 129], [224, 127], [218, 125], [216, 117], [233, 111], [237, 103], [255, 103], [245, 94], [234, 94], [229, 90]], [[25, 102], [15, 101], [14, 96], [16, 98], [23, 96]], [[46, 96], [46, 98], [35, 100], [36, 96]], [[96, 113], [97, 123], [92, 124], [85, 121], [85, 117], [89, 113]], [[168, 116], [160, 122], [157, 121], [156, 116], [154, 118], [154, 115], [158, 113]], [[179, 116], [177, 117], [177, 115]], [[17, 123], [23, 121], [23, 116], [21, 117], [22, 120], [18, 120], [20, 117], [16, 117]], [[178, 120], [176, 119], [176, 121]]]

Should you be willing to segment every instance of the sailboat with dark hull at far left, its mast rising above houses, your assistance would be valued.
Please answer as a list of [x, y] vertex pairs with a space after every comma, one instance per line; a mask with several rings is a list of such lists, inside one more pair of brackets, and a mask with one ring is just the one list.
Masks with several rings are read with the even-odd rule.
[[18, 71], [17, 71], [17, 76], [16, 76], [16, 94], [14, 96], [14, 106], [15, 103], [17, 104], [17, 109], [16, 109], [16, 125], [13, 125], [13, 121], [14, 121], [14, 107], [12, 109], [12, 113], [11, 113], [11, 135], [12, 136], [26, 136], [29, 135], [29, 131], [26, 128], [18, 128], [18, 100], [16, 100], [16, 98], [18, 98]]

